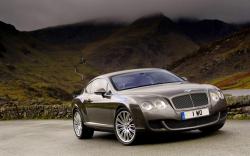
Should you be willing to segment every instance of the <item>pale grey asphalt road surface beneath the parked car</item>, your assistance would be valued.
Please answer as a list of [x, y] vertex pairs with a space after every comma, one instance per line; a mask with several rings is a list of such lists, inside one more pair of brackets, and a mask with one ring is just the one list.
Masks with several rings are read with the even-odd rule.
[[250, 155], [250, 121], [228, 121], [221, 131], [145, 135], [138, 145], [123, 146], [113, 134], [95, 132], [90, 140], [74, 136], [71, 121], [28, 120], [0, 122], [0, 155]]

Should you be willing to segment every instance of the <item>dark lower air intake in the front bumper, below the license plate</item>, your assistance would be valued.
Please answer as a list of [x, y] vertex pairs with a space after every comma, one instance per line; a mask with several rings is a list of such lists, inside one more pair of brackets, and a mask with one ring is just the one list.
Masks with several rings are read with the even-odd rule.
[[217, 121], [219, 118], [219, 113], [216, 113], [211, 116], [189, 119], [189, 120], [164, 120], [165, 124], [172, 129], [188, 128], [195, 127], [200, 125], [209, 124], [211, 122]]

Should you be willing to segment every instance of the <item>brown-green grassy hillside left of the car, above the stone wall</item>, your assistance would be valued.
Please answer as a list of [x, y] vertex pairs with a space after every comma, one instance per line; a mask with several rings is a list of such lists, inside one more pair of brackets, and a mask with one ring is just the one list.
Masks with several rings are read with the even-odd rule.
[[[98, 74], [88, 65], [78, 65], [85, 81], [75, 73], [74, 66], [80, 62], [82, 55], [78, 49], [42, 45], [27, 38], [24, 40], [7, 38], [4, 42], [9, 52], [0, 60], [0, 98], [10, 100], [9, 103], [62, 104], [71, 100], [73, 93], [81, 90], [89, 79]], [[32, 48], [29, 42], [43, 48]], [[23, 54], [22, 51], [29, 53]], [[14, 68], [10, 69], [7, 65]]]

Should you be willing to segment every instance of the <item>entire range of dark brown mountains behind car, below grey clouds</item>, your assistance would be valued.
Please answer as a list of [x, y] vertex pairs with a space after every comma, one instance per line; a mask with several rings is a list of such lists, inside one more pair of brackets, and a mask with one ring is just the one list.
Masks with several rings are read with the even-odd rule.
[[[70, 100], [98, 74], [142, 67], [224, 87], [224, 77], [250, 71], [249, 42], [249, 31], [239, 25], [173, 21], [162, 14], [125, 24], [81, 22], [32, 32], [0, 22], [0, 97], [57, 103]], [[246, 75], [243, 86], [249, 84]]]

